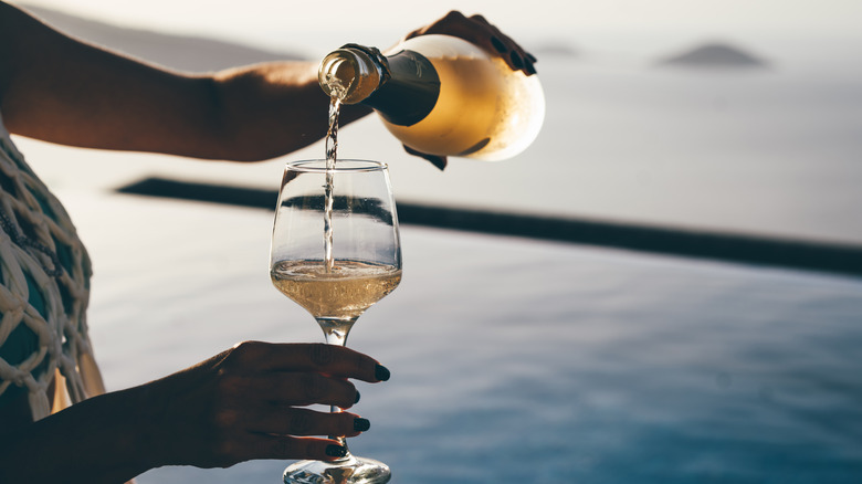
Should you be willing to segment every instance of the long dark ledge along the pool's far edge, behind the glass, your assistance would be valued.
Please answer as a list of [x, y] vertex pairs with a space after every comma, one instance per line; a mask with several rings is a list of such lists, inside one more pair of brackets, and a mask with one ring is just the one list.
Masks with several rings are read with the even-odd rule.
[[[147, 178], [120, 193], [273, 210], [277, 192]], [[862, 246], [398, 202], [401, 224], [862, 276]]]

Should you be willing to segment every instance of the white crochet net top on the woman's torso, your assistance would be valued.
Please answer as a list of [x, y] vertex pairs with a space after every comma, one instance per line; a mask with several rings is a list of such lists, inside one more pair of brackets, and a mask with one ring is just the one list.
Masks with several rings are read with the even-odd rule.
[[91, 275], [69, 214], [0, 118], [0, 407], [25, 391], [39, 420], [104, 392], [87, 336]]

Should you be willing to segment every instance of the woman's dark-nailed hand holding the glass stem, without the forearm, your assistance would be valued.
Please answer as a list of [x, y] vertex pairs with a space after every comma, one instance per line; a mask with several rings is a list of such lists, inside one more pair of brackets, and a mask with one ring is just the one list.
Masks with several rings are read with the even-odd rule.
[[155, 402], [148, 439], [158, 465], [225, 467], [252, 459], [335, 460], [335, 440], [355, 436], [368, 420], [349, 412], [359, 400], [355, 378], [376, 382], [389, 371], [351, 349], [324, 344], [243, 343], [192, 368], [141, 387]]

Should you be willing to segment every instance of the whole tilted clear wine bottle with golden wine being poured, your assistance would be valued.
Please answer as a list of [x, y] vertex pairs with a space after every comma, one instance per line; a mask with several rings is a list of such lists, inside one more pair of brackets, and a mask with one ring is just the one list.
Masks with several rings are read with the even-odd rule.
[[343, 104], [372, 107], [401, 143], [429, 155], [512, 158], [545, 117], [535, 74], [450, 35], [420, 35], [388, 55], [347, 44], [324, 57], [318, 81]]

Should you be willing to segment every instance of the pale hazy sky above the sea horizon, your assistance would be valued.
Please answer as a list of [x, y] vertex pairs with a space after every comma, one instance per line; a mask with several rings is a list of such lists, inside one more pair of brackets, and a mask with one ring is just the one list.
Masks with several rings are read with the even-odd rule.
[[862, 38], [859, 20], [862, 1], [859, 0], [24, 0], [18, 3], [65, 10], [120, 25], [269, 46], [302, 44], [305, 39], [317, 42], [333, 36], [329, 31], [348, 36], [356, 35], [354, 32], [368, 35], [368, 39], [351, 40], [356, 42], [395, 42], [451, 9], [483, 13], [518, 40], [586, 38], [589, 41], [595, 36], [612, 41], [622, 34], [638, 33], [677, 39], [686, 35]]

